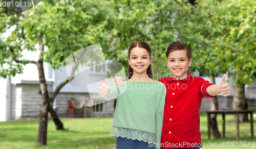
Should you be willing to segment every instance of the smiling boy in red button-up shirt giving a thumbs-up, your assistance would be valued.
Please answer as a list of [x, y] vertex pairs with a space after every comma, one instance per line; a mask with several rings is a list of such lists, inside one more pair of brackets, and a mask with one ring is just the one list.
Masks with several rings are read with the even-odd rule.
[[[202, 98], [214, 97], [220, 93], [228, 96], [230, 87], [225, 83], [226, 74], [223, 75], [221, 86], [213, 85], [200, 77], [193, 78], [187, 72], [192, 61], [191, 48], [181, 41], [170, 44], [165, 56], [166, 64], [173, 76], [159, 79], [167, 90], [161, 148], [200, 148], [199, 110]], [[112, 81], [112, 84], [122, 83], [119, 77]]]

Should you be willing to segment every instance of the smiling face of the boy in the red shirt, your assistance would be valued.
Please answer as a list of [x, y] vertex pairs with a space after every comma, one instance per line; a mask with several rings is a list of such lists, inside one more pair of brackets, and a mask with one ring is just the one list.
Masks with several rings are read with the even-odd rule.
[[187, 68], [191, 65], [192, 59], [188, 60], [185, 50], [175, 50], [169, 53], [166, 64], [173, 77], [177, 80], [187, 77]]

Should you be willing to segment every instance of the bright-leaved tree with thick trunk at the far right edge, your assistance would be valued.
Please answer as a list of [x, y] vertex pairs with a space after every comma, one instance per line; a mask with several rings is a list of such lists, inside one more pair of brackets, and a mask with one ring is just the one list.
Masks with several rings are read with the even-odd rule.
[[[253, 1], [223, 1], [215, 7], [219, 14], [212, 18], [221, 22], [220, 30], [213, 33], [222, 32], [216, 42], [218, 57], [214, 64], [220, 64], [220, 69], [232, 74], [233, 110], [247, 109], [245, 84], [252, 84], [255, 72], [255, 6]], [[241, 122], [248, 121], [247, 114], [240, 117]]]

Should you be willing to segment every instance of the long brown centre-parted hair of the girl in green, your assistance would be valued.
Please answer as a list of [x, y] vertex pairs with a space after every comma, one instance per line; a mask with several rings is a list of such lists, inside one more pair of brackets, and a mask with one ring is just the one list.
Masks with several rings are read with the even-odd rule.
[[[150, 54], [150, 60], [152, 58], [152, 51], [151, 51], [151, 47], [150, 45], [148, 45], [146, 42], [144, 41], [134, 41], [130, 47], [129, 47], [129, 50], [128, 50], [128, 59], [130, 60], [130, 54], [131, 54], [131, 50], [134, 48], [134, 47], [140, 47], [140, 48], [144, 48], [146, 49], [146, 51], [148, 52], [148, 54]], [[151, 69], [151, 64], [147, 67], [146, 69], [146, 74], [148, 77], [150, 77], [151, 79], [153, 78], [153, 75], [152, 75], [152, 69]], [[128, 78], [131, 79], [133, 76], [133, 68], [131, 67], [131, 65], [129, 65], [128, 67]]]

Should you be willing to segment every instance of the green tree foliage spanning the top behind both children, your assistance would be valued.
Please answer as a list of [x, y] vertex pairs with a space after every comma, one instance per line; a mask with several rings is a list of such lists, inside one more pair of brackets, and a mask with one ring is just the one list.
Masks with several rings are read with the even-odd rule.
[[[153, 51], [152, 70], [159, 78], [167, 77], [167, 46], [184, 41], [192, 51], [192, 71], [207, 76], [228, 71], [238, 74], [237, 83], [251, 84], [256, 74], [255, 1], [42, 1], [35, 8], [4, 17], [0, 15], [0, 33], [15, 30], [0, 39], [1, 75], [22, 73], [24, 49], [36, 51], [41, 36], [48, 47], [41, 57], [54, 69], [65, 64], [71, 53], [100, 43], [105, 59], [122, 63], [126, 76], [127, 48], [138, 40], [146, 41]], [[12, 47], [14, 53], [9, 48]]]

